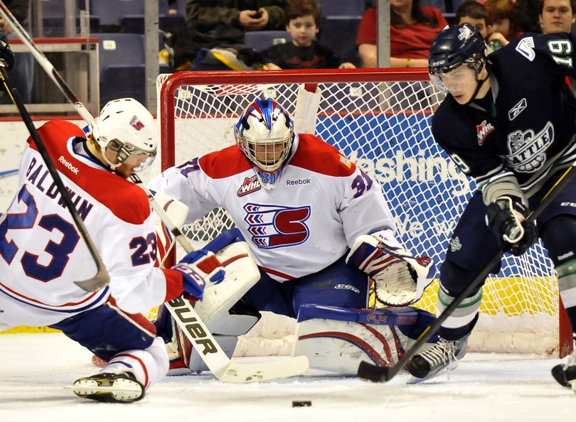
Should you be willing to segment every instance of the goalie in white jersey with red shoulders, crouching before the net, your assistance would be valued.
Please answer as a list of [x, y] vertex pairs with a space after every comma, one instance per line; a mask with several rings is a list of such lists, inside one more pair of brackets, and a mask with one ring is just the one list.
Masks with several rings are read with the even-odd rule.
[[[394, 311], [363, 310], [367, 274], [378, 301], [405, 306], [422, 296], [433, 266], [395, 238], [378, 182], [316, 136], [295, 134], [291, 117], [272, 99], [245, 109], [235, 141], [167, 169], [149, 188], [187, 205], [187, 222], [215, 207], [230, 212], [231, 237], [247, 242], [260, 269], [237, 305], [299, 318], [295, 353], [309, 356], [311, 367], [356, 374], [360, 359], [395, 362], [407, 337], [433, 317], [402, 308], [409, 315], [398, 328], [402, 318]], [[342, 344], [330, 347], [336, 338]], [[338, 348], [345, 345], [351, 350]]]

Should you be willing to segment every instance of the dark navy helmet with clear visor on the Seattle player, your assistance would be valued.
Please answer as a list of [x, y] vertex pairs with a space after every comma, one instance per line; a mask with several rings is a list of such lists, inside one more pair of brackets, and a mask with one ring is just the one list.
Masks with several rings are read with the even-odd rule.
[[486, 43], [479, 31], [469, 23], [440, 31], [428, 54], [428, 71], [434, 85], [443, 92], [452, 93], [458, 88], [476, 84], [471, 99], [476, 97], [487, 79], [479, 79], [485, 65]]

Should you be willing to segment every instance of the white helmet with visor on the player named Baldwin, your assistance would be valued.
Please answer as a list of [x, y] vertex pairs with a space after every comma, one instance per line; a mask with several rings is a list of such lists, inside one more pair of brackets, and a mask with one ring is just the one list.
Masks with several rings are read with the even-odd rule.
[[[144, 155], [145, 161], [134, 171], [148, 167], [156, 157], [159, 131], [148, 109], [134, 98], [113, 99], [90, 124], [107, 164], [114, 170], [131, 155]], [[112, 145], [110, 143], [112, 142]], [[118, 163], [106, 156], [106, 148], [117, 151]]]

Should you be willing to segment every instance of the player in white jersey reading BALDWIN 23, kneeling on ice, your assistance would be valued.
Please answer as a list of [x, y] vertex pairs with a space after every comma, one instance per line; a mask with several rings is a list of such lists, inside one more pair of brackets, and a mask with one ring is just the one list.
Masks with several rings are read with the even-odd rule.
[[164, 341], [139, 313], [184, 292], [201, 298], [204, 283], [221, 281], [223, 271], [211, 253], [188, 256], [173, 269], [154, 266], [150, 205], [126, 180], [156, 155], [158, 131], [146, 108], [131, 98], [109, 102], [87, 132], [59, 120], [38, 129], [110, 284], [87, 292], [74, 283], [94, 276], [96, 266], [28, 139], [18, 193], [0, 220], [0, 331], [16, 325], [62, 330], [107, 361], [100, 374], [75, 382], [76, 394], [135, 401], [169, 366]]

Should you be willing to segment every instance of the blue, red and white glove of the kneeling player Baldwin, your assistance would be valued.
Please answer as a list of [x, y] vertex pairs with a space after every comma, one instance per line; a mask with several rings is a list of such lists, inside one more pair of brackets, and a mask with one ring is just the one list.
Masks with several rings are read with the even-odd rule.
[[224, 280], [224, 268], [215, 254], [205, 249], [192, 251], [172, 267], [182, 273], [184, 291], [202, 299], [206, 283], [220, 283]]

